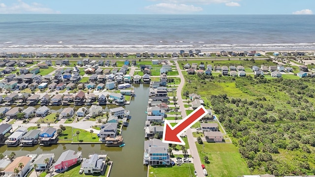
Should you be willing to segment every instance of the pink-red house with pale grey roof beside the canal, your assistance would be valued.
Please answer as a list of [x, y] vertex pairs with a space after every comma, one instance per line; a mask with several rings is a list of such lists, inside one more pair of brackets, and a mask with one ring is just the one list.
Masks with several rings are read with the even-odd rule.
[[75, 165], [79, 159], [82, 157], [82, 152], [78, 151], [75, 153], [74, 150], [64, 151], [56, 163], [54, 164], [54, 168], [57, 173], [61, 173], [66, 171], [69, 167]]

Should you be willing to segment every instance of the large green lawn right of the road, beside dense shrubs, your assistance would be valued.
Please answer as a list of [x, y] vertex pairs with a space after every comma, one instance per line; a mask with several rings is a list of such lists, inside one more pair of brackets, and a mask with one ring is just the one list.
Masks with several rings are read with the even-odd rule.
[[[249, 168], [233, 144], [196, 143], [201, 163], [206, 166], [212, 177], [239, 177], [250, 174]], [[209, 157], [210, 164], [204, 163], [203, 157]]]

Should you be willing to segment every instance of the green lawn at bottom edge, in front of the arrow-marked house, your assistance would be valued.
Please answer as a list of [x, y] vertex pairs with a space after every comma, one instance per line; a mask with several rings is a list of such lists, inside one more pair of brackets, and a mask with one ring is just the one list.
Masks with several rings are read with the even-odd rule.
[[149, 166], [149, 177], [192, 177], [194, 171], [193, 164], [183, 164], [181, 166]]

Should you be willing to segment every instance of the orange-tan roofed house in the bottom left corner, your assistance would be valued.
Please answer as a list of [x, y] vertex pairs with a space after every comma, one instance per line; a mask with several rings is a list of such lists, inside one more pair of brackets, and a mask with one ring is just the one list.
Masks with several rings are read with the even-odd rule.
[[[27, 156], [16, 157], [13, 160], [13, 162], [3, 172], [8, 177], [24, 177], [32, 168], [31, 162], [32, 157]], [[20, 169], [20, 164], [23, 164], [22, 169]], [[18, 175], [16, 175], [14, 169], [20, 170]]]

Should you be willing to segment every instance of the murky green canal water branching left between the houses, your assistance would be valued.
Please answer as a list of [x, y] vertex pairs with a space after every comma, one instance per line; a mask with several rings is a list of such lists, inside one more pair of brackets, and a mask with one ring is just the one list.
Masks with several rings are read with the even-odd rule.
[[108, 153], [110, 160], [113, 161], [110, 177], [146, 177], [147, 167], [143, 164], [144, 152], [144, 125], [146, 120], [149, 86], [134, 85], [135, 97], [132, 98], [126, 110], [130, 110], [131, 119], [128, 127], [123, 128], [123, 138], [125, 147], [106, 147], [103, 144], [82, 144], [82, 145], [53, 145], [51, 147], [0, 147], [0, 152], [10, 154], [12, 151], [17, 156], [28, 153], [55, 153], [57, 160], [65, 150], [72, 149], [82, 151], [83, 157], [88, 157], [89, 153]]

